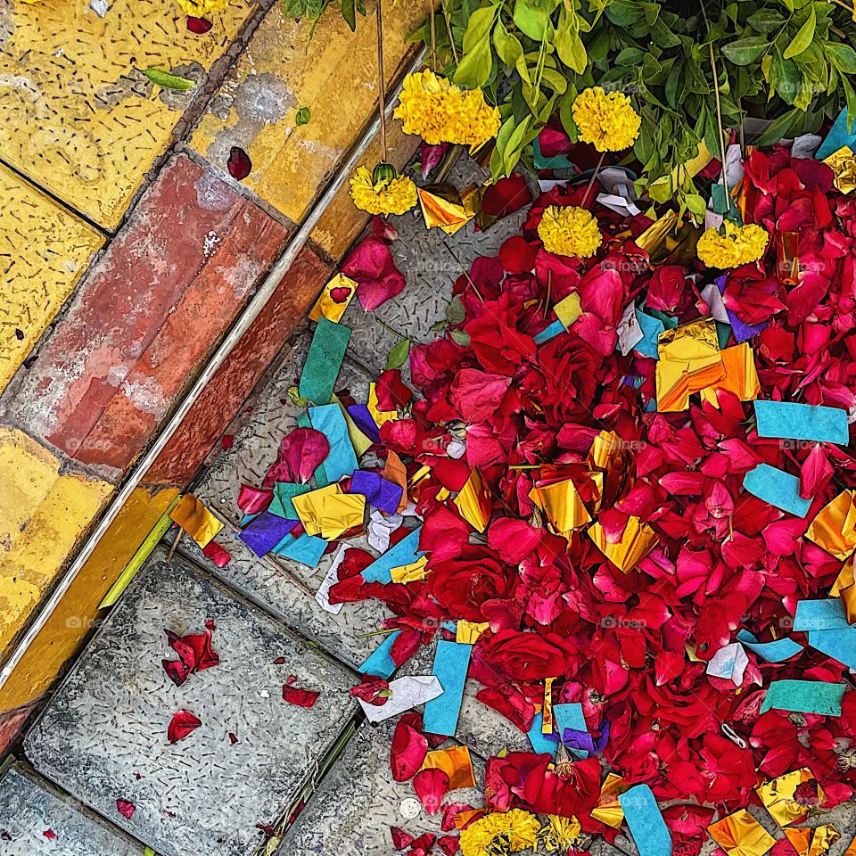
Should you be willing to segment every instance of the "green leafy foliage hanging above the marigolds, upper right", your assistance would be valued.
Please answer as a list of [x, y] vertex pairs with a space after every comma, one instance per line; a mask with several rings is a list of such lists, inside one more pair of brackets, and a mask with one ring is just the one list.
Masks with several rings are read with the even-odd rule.
[[856, 25], [826, 0], [446, 0], [446, 13], [449, 26], [440, 9], [435, 22], [443, 70], [482, 86], [502, 115], [495, 176], [531, 165], [551, 116], [575, 139], [572, 103], [587, 86], [630, 96], [639, 188], [654, 202], [677, 194], [696, 216], [704, 200], [684, 166], [703, 141], [719, 156], [720, 120], [743, 135], [746, 117], [768, 119], [745, 142], [771, 144], [818, 130], [845, 103], [856, 117]]

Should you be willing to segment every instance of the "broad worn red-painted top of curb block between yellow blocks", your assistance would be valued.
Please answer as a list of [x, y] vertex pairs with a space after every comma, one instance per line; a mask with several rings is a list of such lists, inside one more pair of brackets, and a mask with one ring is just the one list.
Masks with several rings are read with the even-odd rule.
[[286, 235], [213, 173], [177, 156], [78, 289], [13, 412], [30, 432], [118, 478]]

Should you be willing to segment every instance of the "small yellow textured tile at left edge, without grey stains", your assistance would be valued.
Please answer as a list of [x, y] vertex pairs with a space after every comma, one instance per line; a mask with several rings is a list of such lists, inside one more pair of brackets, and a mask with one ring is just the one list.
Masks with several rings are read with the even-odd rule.
[[0, 392], [102, 244], [95, 229], [0, 164]]

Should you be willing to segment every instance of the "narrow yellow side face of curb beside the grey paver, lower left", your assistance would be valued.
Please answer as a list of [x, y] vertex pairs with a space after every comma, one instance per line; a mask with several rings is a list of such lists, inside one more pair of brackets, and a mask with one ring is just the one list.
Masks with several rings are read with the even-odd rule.
[[137, 488], [83, 566], [21, 663], [0, 689], [0, 712], [42, 695], [77, 653], [98, 615], [98, 604], [152, 531], [178, 489]]

